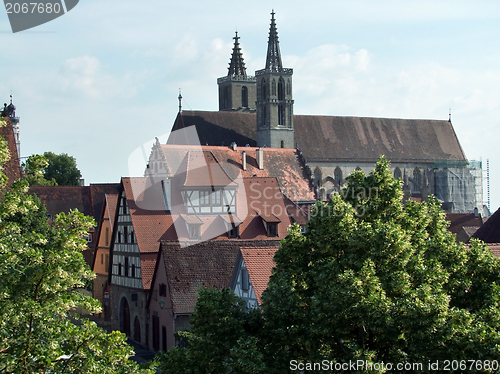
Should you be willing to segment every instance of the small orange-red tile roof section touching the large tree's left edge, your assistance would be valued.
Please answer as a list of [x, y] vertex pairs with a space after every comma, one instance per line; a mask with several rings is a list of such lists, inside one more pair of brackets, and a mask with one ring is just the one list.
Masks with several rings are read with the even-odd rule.
[[278, 248], [241, 248], [241, 255], [259, 305], [261, 305], [262, 293], [267, 288], [272, 269], [276, 266], [273, 259]]

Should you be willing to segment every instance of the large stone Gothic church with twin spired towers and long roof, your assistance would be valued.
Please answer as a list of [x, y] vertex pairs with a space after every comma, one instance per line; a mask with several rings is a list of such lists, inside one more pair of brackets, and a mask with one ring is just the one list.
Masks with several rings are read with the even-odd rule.
[[185, 144], [175, 130], [195, 126], [200, 144], [295, 148], [316, 198], [327, 200], [354, 170], [369, 173], [381, 155], [403, 182], [405, 199], [435, 195], [448, 213], [483, 210], [481, 163], [469, 161], [448, 120], [296, 115], [293, 69], [284, 68], [275, 13], [266, 63], [247, 75], [236, 32], [226, 76], [217, 80], [218, 111], [181, 110], [167, 144]]

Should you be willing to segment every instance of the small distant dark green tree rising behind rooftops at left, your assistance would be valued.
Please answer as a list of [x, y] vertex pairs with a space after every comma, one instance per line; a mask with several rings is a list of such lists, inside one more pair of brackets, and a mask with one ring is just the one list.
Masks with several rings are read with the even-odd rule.
[[59, 186], [79, 186], [82, 174], [76, 167], [76, 160], [67, 153], [56, 155], [53, 152], [45, 152], [43, 156], [48, 161], [48, 166], [44, 169], [44, 176], [47, 180], [54, 179]]

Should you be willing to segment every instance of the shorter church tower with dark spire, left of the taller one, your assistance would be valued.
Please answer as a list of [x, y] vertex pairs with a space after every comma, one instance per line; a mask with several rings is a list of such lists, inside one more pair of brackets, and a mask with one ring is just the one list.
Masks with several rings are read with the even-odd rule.
[[219, 85], [219, 110], [255, 110], [255, 77], [247, 76], [241, 53], [238, 31], [227, 76], [217, 79]]

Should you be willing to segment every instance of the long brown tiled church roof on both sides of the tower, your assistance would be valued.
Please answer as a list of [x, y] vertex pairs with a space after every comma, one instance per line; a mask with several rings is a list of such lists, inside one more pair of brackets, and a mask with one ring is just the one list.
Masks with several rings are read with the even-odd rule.
[[[196, 126], [200, 144], [256, 142], [256, 114], [182, 111], [172, 130]], [[307, 161], [466, 161], [451, 122], [399, 118], [294, 115], [295, 142]], [[184, 141], [184, 143], [183, 143]], [[169, 144], [186, 144], [173, 133]]]

